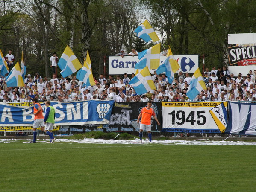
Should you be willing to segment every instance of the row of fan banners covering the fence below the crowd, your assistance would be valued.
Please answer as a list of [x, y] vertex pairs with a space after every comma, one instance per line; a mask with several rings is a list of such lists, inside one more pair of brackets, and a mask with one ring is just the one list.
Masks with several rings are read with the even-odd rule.
[[[90, 100], [52, 102], [56, 109], [56, 131], [135, 132], [136, 122], [146, 102]], [[44, 103], [41, 104], [45, 111]], [[151, 119], [153, 132], [189, 134], [256, 135], [253, 102], [153, 102], [160, 126]], [[25, 132], [32, 128], [31, 103], [0, 103], [0, 132]]]

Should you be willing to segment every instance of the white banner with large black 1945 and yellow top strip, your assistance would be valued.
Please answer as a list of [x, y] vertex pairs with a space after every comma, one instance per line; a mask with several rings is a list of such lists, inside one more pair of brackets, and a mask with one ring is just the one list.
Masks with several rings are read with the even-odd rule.
[[162, 102], [162, 131], [224, 133], [225, 113], [227, 102]]

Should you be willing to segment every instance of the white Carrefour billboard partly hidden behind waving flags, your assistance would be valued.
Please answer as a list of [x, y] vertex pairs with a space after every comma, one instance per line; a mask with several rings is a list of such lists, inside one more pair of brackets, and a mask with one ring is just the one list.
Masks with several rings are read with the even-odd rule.
[[[184, 73], [194, 73], [195, 70], [199, 67], [199, 55], [174, 55], [178, 61], [181, 70]], [[165, 56], [160, 56], [160, 61], [165, 60]], [[139, 61], [138, 56], [110, 56], [109, 57], [109, 74], [110, 75], [121, 75], [124, 73], [132, 74], [135, 73], [134, 69], [135, 64]], [[151, 69], [150, 73], [154, 73], [154, 70]]]

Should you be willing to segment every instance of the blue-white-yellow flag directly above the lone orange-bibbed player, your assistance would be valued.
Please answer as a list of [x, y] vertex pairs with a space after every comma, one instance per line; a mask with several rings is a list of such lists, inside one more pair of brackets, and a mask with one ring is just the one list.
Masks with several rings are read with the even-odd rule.
[[129, 84], [135, 89], [136, 93], [139, 95], [156, 89], [147, 66], [143, 70], [141, 70], [141, 72], [139, 72], [134, 78], [132, 78]]

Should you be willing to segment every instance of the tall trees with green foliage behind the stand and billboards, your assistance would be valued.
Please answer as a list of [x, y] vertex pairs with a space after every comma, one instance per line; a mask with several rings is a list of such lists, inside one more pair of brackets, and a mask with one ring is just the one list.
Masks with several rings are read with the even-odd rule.
[[[227, 35], [256, 32], [256, 3], [251, 0], [29, 0], [0, 2], [0, 49], [13, 49], [27, 73], [51, 73], [49, 58], [59, 57], [71, 41], [83, 62], [89, 51], [94, 76], [103, 73], [103, 57], [124, 48], [138, 52], [145, 43], [134, 34], [148, 19], [174, 54], [204, 54], [206, 67], [222, 66], [227, 56]], [[142, 11], [141, 11], [142, 10]], [[88, 22], [82, 17], [86, 15]], [[74, 18], [74, 23], [72, 22]], [[85, 30], [86, 43], [82, 42]], [[162, 49], [162, 47], [161, 47]]]

